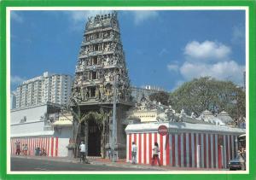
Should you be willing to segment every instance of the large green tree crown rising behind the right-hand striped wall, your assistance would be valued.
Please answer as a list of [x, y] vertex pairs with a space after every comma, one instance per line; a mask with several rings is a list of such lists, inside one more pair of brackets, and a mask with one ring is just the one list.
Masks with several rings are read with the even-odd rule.
[[199, 115], [206, 109], [219, 113], [224, 109], [233, 119], [246, 115], [245, 92], [230, 81], [209, 77], [184, 83], [171, 93], [169, 102], [174, 109], [184, 109], [188, 114]]

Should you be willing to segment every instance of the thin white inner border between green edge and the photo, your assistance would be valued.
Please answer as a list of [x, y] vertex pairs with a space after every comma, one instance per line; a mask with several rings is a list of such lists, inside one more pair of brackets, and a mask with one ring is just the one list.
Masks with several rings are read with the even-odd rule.
[[10, 11], [11, 10], [245, 10], [246, 29], [246, 134], [249, 135], [249, 9], [247, 6], [212, 7], [7, 7], [6, 8], [6, 92], [7, 92], [7, 174], [248, 174], [249, 136], [247, 136], [246, 171], [10, 171]]

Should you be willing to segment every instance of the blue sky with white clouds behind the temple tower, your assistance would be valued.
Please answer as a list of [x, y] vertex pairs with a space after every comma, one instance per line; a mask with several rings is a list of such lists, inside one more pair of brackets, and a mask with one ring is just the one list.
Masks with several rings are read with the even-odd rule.
[[[48, 71], [74, 75], [87, 17], [99, 11], [12, 11], [11, 90]], [[243, 84], [245, 11], [119, 11], [131, 84], [175, 90], [201, 76]]]

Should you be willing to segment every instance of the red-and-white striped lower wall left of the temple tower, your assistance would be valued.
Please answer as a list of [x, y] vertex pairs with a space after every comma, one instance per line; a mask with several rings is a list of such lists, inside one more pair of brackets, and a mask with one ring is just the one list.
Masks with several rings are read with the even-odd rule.
[[47, 156], [56, 157], [58, 156], [58, 137], [57, 136], [34, 136], [34, 137], [14, 137], [11, 138], [11, 154], [16, 152], [16, 142], [20, 142], [20, 150], [23, 145], [27, 144], [28, 152], [27, 155], [35, 155], [35, 148], [44, 148]]

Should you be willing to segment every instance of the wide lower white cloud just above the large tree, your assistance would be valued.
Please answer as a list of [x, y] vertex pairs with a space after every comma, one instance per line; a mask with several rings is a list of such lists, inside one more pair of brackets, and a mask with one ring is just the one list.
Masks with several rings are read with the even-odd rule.
[[180, 67], [180, 73], [187, 80], [210, 76], [220, 80], [231, 80], [236, 84], [242, 84], [244, 70], [245, 67], [238, 65], [236, 61], [220, 61], [214, 64], [186, 61]]

